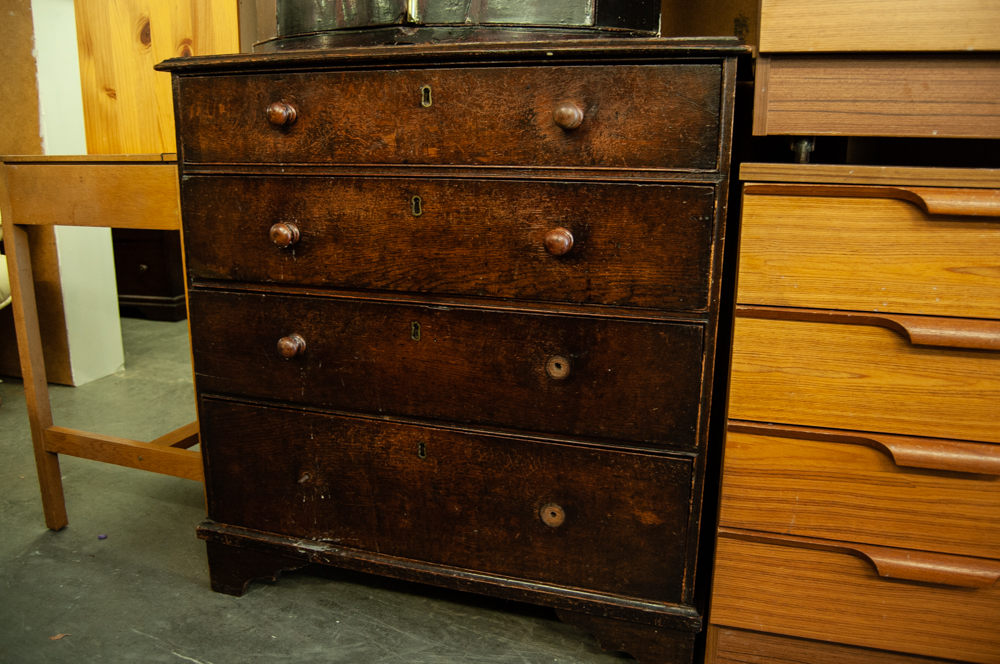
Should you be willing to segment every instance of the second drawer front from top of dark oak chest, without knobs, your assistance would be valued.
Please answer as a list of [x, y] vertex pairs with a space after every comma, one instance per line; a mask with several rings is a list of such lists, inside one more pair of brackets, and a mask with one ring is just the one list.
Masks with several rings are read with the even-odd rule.
[[193, 177], [183, 200], [194, 279], [708, 308], [711, 187]]

